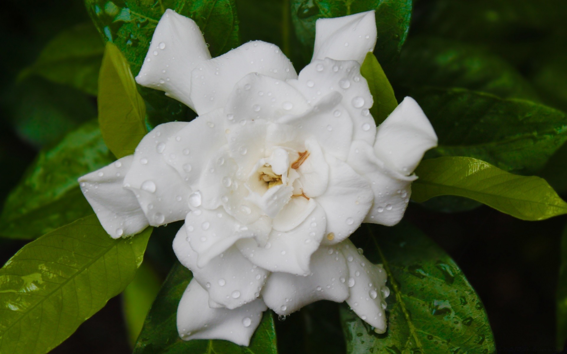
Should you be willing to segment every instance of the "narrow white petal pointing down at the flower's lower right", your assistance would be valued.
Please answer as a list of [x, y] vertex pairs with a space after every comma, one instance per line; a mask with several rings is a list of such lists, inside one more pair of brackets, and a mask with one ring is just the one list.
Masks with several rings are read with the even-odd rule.
[[366, 257], [359, 254], [357, 248], [345, 240], [342, 253], [346, 257], [349, 268], [350, 296], [346, 303], [378, 333], [386, 332], [385, 297], [390, 293], [386, 287], [386, 271], [382, 265], [374, 265]]

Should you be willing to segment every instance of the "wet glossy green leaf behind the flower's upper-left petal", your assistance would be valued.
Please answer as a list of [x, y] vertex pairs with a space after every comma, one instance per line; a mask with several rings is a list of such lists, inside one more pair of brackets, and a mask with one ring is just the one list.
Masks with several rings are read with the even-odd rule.
[[[167, 8], [189, 16], [199, 25], [213, 57], [239, 45], [234, 0], [85, 0], [85, 4], [104, 41], [113, 42], [124, 53], [134, 75], [142, 67], [155, 27]], [[147, 88], [140, 92], [148, 103], [152, 125], [193, 117], [187, 106], [163, 92]]]

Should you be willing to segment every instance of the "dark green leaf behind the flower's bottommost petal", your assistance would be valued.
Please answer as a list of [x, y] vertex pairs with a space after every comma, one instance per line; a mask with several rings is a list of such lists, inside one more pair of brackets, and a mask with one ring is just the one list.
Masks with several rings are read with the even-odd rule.
[[249, 347], [241, 347], [227, 340], [193, 339], [185, 341], [177, 334], [177, 305], [193, 278], [191, 271], [176, 262], [163, 283], [142, 332], [134, 354], [192, 353], [192, 354], [277, 354], [276, 330], [271, 312], [265, 312], [252, 336]]

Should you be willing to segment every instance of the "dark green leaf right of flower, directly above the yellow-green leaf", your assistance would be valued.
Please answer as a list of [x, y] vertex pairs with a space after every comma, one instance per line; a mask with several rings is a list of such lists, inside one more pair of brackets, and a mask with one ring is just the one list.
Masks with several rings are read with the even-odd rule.
[[531, 101], [459, 88], [416, 89], [411, 96], [439, 137], [428, 156], [469, 156], [533, 174], [567, 140], [565, 113]]

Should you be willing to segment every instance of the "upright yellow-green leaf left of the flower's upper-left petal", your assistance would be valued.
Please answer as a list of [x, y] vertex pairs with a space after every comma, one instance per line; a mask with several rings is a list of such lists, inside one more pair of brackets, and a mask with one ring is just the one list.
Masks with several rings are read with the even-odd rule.
[[99, 125], [104, 142], [120, 157], [134, 153], [146, 129], [146, 105], [132, 71], [116, 45], [108, 42], [99, 76]]

